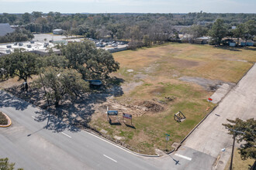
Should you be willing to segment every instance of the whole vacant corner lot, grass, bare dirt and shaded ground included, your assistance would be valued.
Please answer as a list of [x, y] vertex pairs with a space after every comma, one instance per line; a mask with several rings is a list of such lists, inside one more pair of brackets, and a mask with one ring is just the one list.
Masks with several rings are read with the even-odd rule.
[[[171, 134], [171, 150], [171, 144], [181, 141], [214, 107], [206, 99], [217, 87], [237, 83], [256, 61], [253, 48], [233, 50], [178, 43], [126, 50], [113, 56], [120, 63], [120, 70], [112, 74], [119, 80], [113, 81], [115, 85], [74, 101], [65, 98], [61, 107], [49, 110], [63, 115], [63, 121], [95, 128], [106, 138], [144, 154], [154, 154], [156, 148], [165, 150], [165, 134]], [[16, 80], [2, 82], [0, 88], [22, 83]], [[19, 89], [9, 91], [33, 104], [47, 106], [42, 91], [20, 93]], [[107, 117], [107, 107], [118, 110], [119, 116]], [[174, 120], [179, 110], [186, 117], [180, 123]], [[123, 119], [123, 113], [132, 114], [133, 122]]]

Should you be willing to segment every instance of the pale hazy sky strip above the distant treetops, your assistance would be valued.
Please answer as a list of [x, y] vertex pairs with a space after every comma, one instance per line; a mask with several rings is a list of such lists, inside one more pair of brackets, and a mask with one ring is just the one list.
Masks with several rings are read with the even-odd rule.
[[256, 0], [0, 0], [0, 13], [256, 13]]

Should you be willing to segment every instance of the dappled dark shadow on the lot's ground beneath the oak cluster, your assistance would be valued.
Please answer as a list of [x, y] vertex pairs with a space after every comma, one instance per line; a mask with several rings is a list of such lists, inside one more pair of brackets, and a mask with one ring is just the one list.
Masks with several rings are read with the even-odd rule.
[[[43, 110], [37, 111], [36, 121], [46, 121], [47, 128], [54, 132], [68, 131], [81, 131], [81, 128], [89, 128], [88, 123], [92, 120], [92, 114], [95, 113], [93, 109], [94, 104], [102, 104], [106, 102], [107, 97], [118, 97], [123, 95], [123, 89], [120, 87], [122, 79], [112, 78], [108, 82], [116, 81], [118, 83], [112, 83], [102, 87], [101, 90], [92, 90], [91, 93], [81, 93], [80, 97], [75, 99], [70, 96], [64, 96], [61, 100], [59, 107], [54, 107], [54, 102], [50, 101], [50, 107], [48, 107], [46, 97], [44, 96], [43, 89], [30, 87], [26, 93], [21, 90], [21, 87], [11, 87], [6, 89], [9, 93], [12, 93], [16, 97], [26, 100], [27, 102], [41, 107]], [[7, 100], [0, 104], [0, 107], [5, 104], [14, 106], [16, 109], [26, 109], [29, 103], [22, 100], [14, 100], [9, 95], [4, 95]], [[7, 102], [11, 102], [8, 104]], [[49, 114], [50, 113], [50, 114]]]

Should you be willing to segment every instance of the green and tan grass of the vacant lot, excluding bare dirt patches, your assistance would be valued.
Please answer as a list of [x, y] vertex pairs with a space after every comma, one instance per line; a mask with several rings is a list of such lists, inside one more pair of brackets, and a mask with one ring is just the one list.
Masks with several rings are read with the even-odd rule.
[[[206, 101], [213, 92], [198, 84], [178, 80], [181, 76], [202, 77], [237, 83], [256, 61], [251, 49], [216, 48], [186, 43], [168, 43], [162, 46], [126, 50], [113, 53], [120, 70], [112, 76], [126, 83], [141, 82], [139, 86], [115, 99], [121, 104], [140, 105], [145, 100], [162, 102], [161, 112], [148, 111], [133, 117], [134, 128], [110, 125], [106, 115], [94, 114], [91, 126], [104, 129], [110, 136], [123, 137], [134, 151], [154, 154], [154, 149], [165, 149], [165, 134], [171, 134], [168, 150], [173, 142], [181, 141], [215, 105]], [[133, 70], [133, 72], [127, 72]], [[175, 100], [167, 101], [165, 97]], [[206, 107], [210, 107], [206, 110]], [[176, 122], [174, 114], [181, 110], [186, 120]], [[129, 114], [129, 113], [127, 113]], [[119, 116], [119, 120], [122, 117]], [[129, 120], [126, 120], [128, 123]]]

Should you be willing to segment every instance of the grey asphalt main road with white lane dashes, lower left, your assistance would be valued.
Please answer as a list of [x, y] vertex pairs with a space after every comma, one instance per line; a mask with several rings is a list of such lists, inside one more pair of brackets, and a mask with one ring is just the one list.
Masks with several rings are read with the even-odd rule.
[[0, 157], [16, 162], [16, 168], [157, 169], [145, 158], [67, 127], [53, 116], [46, 129], [46, 112], [3, 91], [0, 98], [0, 110], [12, 119], [11, 127], [0, 129]]

